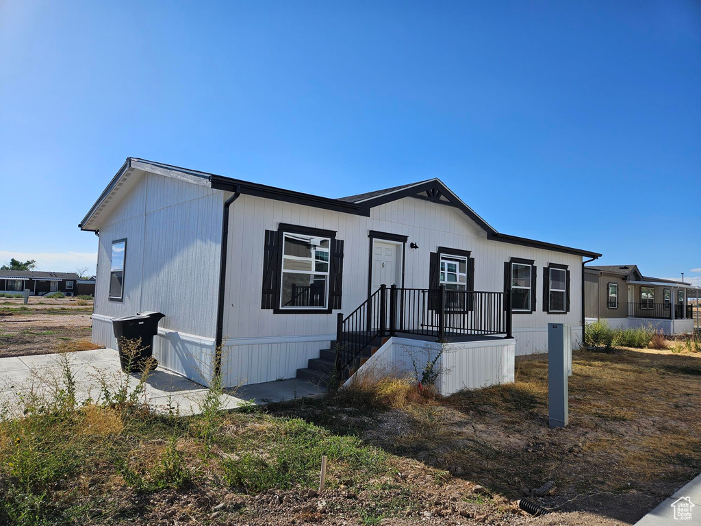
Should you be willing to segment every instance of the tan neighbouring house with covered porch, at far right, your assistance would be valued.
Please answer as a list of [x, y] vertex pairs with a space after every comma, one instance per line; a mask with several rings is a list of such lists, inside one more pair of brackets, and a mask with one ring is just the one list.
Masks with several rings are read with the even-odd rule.
[[609, 325], [636, 328], [653, 325], [667, 335], [693, 331], [690, 297], [698, 289], [689, 283], [643, 276], [636, 265], [585, 267], [585, 316]]

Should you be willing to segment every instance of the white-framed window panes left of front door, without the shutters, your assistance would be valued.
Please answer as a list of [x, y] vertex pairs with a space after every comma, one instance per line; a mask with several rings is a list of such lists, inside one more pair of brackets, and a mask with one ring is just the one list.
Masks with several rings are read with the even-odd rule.
[[330, 238], [283, 233], [280, 309], [326, 309]]

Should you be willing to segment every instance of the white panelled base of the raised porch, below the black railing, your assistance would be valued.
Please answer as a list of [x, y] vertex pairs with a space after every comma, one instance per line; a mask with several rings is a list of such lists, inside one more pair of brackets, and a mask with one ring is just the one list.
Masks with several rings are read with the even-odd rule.
[[514, 382], [513, 339], [439, 344], [393, 337], [355, 372], [346, 385], [368, 376], [413, 376], [412, 360], [421, 369], [441, 350], [435, 367], [440, 371], [436, 386], [443, 396], [463, 389]]

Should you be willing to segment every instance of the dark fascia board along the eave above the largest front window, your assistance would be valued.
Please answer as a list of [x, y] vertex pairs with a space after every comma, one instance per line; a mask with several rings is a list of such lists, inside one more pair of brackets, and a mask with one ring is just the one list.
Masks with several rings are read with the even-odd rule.
[[304, 194], [299, 191], [268, 187], [266, 184], [231, 179], [231, 177], [223, 177], [222, 175], [210, 175], [209, 177], [210, 186], [217, 190], [238, 191], [241, 194], [249, 196], [275, 199], [276, 201], [313, 206], [314, 208], [324, 208], [325, 210], [334, 210], [335, 212], [347, 214], [370, 215], [369, 209], [366, 210], [361, 205], [348, 203], [347, 201], [339, 201], [339, 199], [313, 196], [312, 194]]

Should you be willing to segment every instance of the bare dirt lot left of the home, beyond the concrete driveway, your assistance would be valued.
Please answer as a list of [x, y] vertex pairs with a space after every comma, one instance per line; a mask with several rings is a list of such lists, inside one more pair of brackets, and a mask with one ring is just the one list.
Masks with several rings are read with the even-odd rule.
[[97, 349], [90, 342], [93, 302], [85, 299], [0, 298], [0, 358]]

